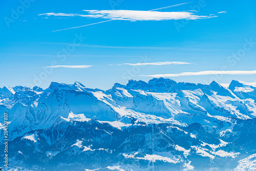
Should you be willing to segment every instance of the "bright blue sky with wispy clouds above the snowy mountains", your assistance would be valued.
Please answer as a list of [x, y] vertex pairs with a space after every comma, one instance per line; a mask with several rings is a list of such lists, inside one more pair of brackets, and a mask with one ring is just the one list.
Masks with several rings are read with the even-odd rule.
[[115, 82], [160, 76], [256, 82], [255, 5], [253, 0], [4, 0], [0, 87], [79, 81], [106, 90]]

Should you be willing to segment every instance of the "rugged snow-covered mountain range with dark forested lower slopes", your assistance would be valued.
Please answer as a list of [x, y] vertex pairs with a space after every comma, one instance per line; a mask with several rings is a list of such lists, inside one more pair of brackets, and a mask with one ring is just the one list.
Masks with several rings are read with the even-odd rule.
[[165, 78], [107, 91], [79, 82], [3, 87], [1, 141], [7, 113], [13, 168], [253, 170], [255, 100], [256, 87], [236, 80], [228, 88]]

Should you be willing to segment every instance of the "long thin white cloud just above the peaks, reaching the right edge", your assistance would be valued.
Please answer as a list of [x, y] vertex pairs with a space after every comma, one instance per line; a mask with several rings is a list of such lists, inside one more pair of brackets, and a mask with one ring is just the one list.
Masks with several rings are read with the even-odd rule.
[[226, 74], [226, 75], [251, 75], [256, 74], [254, 71], [200, 71], [200, 72], [183, 72], [179, 74], [154, 74], [154, 75], [140, 75], [146, 77], [179, 77], [179, 76], [194, 76], [194, 75], [215, 75], [215, 74]]

